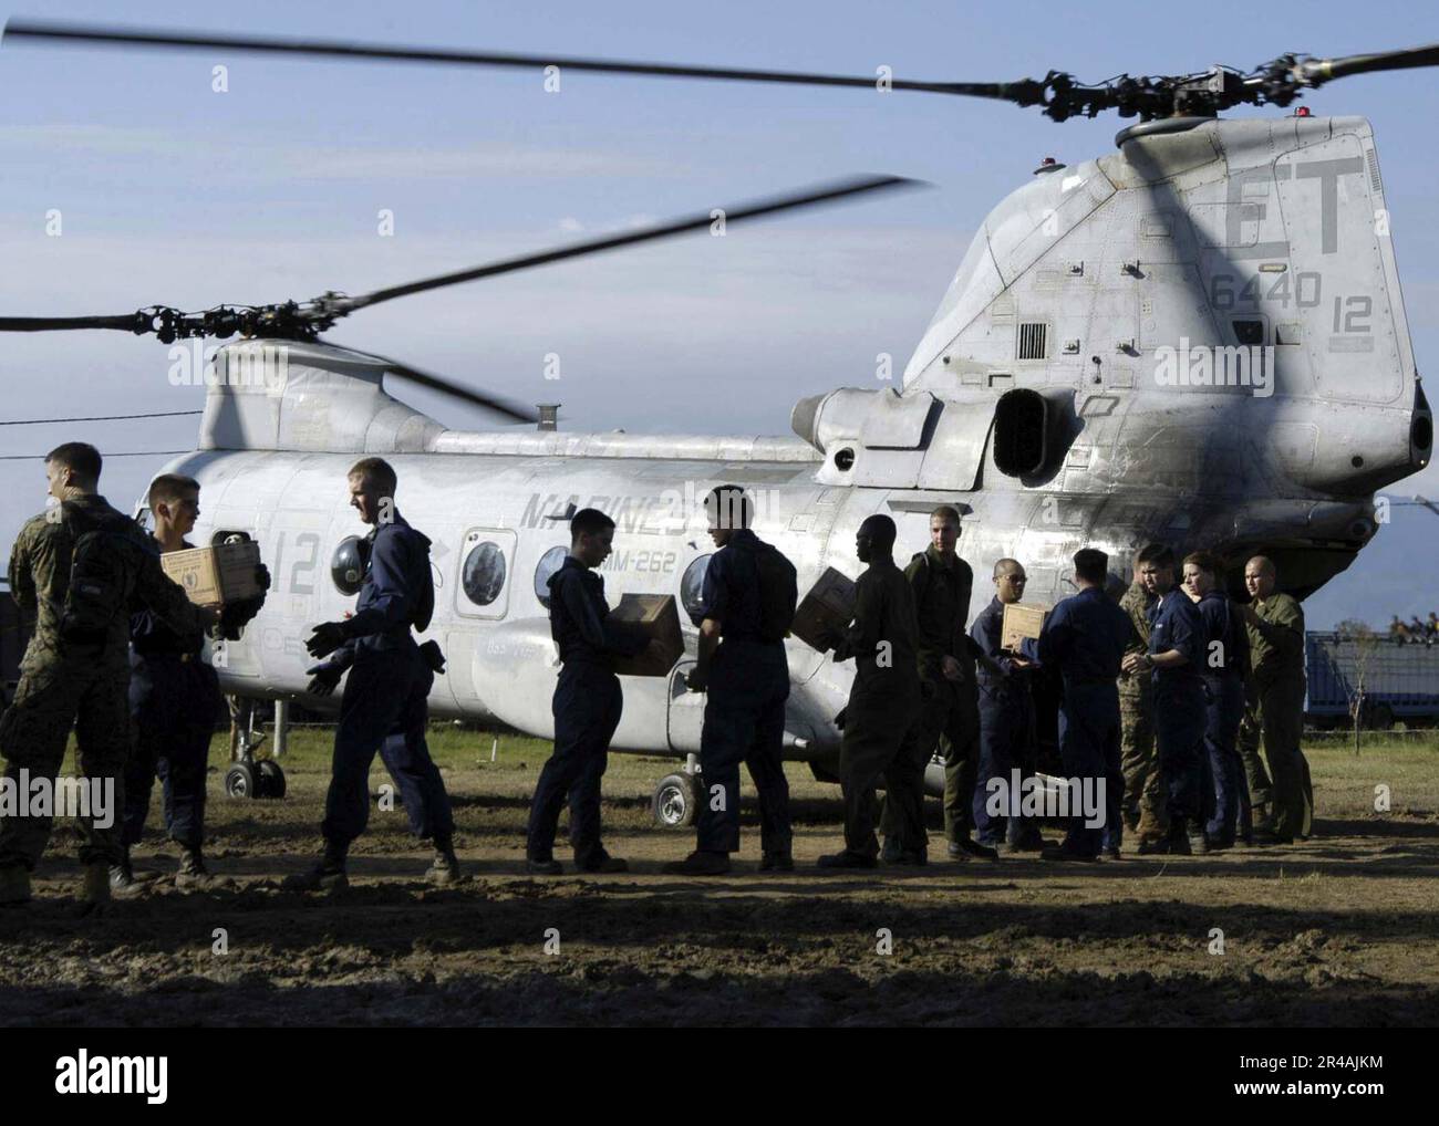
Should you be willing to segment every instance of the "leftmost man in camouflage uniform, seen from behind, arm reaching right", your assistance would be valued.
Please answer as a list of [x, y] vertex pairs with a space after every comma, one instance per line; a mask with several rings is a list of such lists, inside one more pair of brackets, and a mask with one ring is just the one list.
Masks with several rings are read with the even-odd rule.
[[[85, 899], [109, 899], [109, 866], [119, 863], [124, 768], [130, 752], [130, 608], [148, 605], [171, 628], [209, 630], [213, 611], [191, 605], [160, 567], [160, 555], [131, 518], [96, 495], [101, 456], [94, 446], [72, 441], [45, 460], [49, 492], [59, 503], [20, 529], [10, 554], [10, 588], [35, 636], [20, 664], [14, 702], [0, 719], [0, 756], [7, 784], [19, 788], [20, 771], [53, 779], [60, 772], [71, 726], [76, 729], [78, 766], [88, 779], [114, 784], [114, 805], [95, 808], [81, 823]], [[88, 532], [114, 539], [105, 559], [114, 561], [115, 584], [106, 588], [117, 605], [108, 624], [79, 633], [66, 618], [71, 564]], [[105, 824], [108, 821], [108, 824]], [[30, 897], [30, 871], [50, 838], [52, 818], [0, 818], [0, 903]]]

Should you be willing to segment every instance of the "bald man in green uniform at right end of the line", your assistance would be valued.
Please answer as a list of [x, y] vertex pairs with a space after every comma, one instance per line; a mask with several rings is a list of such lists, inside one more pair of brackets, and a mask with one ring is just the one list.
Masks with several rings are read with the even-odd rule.
[[1278, 590], [1275, 565], [1263, 555], [1245, 564], [1245, 587], [1253, 601], [1240, 613], [1249, 627], [1259, 729], [1274, 779], [1269, 818], [1255, 828], [1253, 843], [1289, 844], [1295, 837], [1309, 836], [1314, 818], [1309, 764], [1299, 745], [1305, 693], [1304, 610]]

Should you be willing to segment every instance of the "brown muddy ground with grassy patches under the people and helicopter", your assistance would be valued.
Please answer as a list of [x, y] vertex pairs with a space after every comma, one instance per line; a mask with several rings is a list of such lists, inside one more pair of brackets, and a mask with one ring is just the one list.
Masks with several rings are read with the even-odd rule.
[[[1432, 736], [1357, 758], [1311, 746], [1318, 813], [1307, 843], [1082, 870], [1003, 859], [822, 874], [814, 857], [840, 847], [837, 788], [793, 765], [799, 870], [755, 870], [747, 791], [735, 871], [699, 882], [659, 873], [689, 847], [650, 823], [650, 788], [671, 764], [610, 759], [607, 844], [630, 874], [534, 879], [521, 831], [548, 748], [505, 739], [491, 762], [491, 735], [442, 731], [436, 758], [472, 879], [426, 886], [429, 854], [403, 813], [377, 810], [348, 892], [282, 892], [318, 844], [325, 738], [299, 733], [283, 801], [229, 800], [223, 768], [212, 769], [207, 856], [223, 877], [213, 889], [176, 890], [174, 847], [153, 828], [135, 859], [164, 874], [104, 917], [82, 917], [73, 837], [58, 833], [35, 902], [0, 910], [0, 1024], [1439, 1021]], [[223, 762], [219, 741], [212, 762]], [[384, 779], [376, 769], [373, 784]], [[1379, 785], [1387, 813], [1374, 810]], [[935, 802], [931, 815], [937, 824]], [[566, 848], [557, 856], [568, 861]], [[551, 951], [558, 932], [557, 952], [547, 932]]]

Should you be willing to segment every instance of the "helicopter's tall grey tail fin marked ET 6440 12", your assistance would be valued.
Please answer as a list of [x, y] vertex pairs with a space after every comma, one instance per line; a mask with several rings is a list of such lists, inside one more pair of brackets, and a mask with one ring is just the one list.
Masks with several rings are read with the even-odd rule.
[[[1364, 496], [1427, 464], [1433, 421], [1368, 121], [1191, 116], [1117, 142], [1043, 165], [990, 213], [905, 397], [980, 411], [1023, 398], [1023, 430], [1040, 433], [1040, 398], [1068, 395], [1085, 444], [1117, 452], [1108, 467], [1081, 452], [1078, 467], [1114, 485], [1145, 463], [1225, 477], [1268, 457], [1263, 488]], [[1055, 463], [1073, 426], [1046, 433]], [[1229, 476], [1212, 485], [1255, 488]]]

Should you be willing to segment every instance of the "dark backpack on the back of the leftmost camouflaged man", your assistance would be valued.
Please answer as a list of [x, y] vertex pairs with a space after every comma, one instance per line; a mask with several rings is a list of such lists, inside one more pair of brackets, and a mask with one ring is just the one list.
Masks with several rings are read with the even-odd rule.
[[62, 521], [73, 544], [71, 578], [60, 605], [60, 637], [82, 646], [104, 644], [115, 620], [128, 618], [144, 548], [128, 518], [96, 523], [65, 509]]

